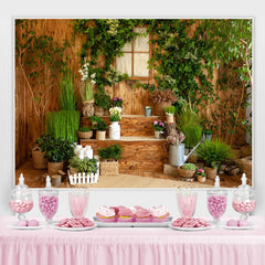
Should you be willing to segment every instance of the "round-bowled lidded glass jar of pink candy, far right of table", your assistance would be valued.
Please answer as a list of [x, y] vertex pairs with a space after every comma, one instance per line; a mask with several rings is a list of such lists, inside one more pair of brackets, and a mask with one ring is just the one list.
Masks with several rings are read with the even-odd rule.
[[247, 220], [248, 214], [256, 208], [256, 195], [252, 187], [246, 184], [245, 173], [243, 173], [241, 180], [242, 184], [234, 191], [233, 208], [241, 213], [242, 220]]

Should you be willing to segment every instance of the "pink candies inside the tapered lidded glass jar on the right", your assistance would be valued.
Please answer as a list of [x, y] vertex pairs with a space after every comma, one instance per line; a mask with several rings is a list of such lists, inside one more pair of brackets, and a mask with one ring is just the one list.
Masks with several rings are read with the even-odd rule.
[[226, 209], [226, 197], [224, 195], [211, 195], [208, 198], [208, 210], [211, 215], [219, 220]]

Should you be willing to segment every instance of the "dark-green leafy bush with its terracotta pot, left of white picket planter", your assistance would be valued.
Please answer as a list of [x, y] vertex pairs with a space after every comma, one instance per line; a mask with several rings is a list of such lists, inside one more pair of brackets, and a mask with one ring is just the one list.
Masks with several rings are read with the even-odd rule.
[[63, 170], [64, 161], [68, 161], [74, 156], [74, 146], [68, 140], [61, 138], [49, 137], [45, 144], [40, 144], [40, 147], [45, 150], [45, 158], [47, 158], [47, 173], [50, 176], [56, 174], [59, 170]]

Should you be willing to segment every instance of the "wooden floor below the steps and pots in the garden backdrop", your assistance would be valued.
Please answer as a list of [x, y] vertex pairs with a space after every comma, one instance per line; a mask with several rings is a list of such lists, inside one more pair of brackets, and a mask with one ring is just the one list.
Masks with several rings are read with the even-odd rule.
[[[30, 188], [44, 188], [45, 181], [42, 177], [46, 170], [38, 170], [32, 167], [31, 161], [26, 161], [23, 166], [15, 170], [15, 184], [20, 173], [24, 174], [25, 184]], [[174, 176], [166, 176], [160, 172], [142, 172], [142, 176], [117, 174], [117, 176], [99, 176], [99, 180], [91, 188], [212, 188], [213, 180], [206, 180], [205, 183], [198, 181], [186, 182], [179, 180]], [[241, 184], [240, 176], [220, 174], [220, 183], [223, 188], [236, 188]], [[250, 183], [251, 184], [251, 183]], [[67, 188], [68, 183], [64, 182], [60, 188]]]

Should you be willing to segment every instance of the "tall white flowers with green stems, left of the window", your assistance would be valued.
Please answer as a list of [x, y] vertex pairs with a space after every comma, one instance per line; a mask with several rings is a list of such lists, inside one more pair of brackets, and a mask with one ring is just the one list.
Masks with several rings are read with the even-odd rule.
[[81, 66], [78, 73], [81, 74], [81, 81], [84, 83], [84, 89], [81, 91], [81, 97], [83, 102], [92, 100], [93, 97], [93, 86], [96, 84], [96, 73], [89, 73], [89, 63], [87, 59], [84, 59], [84, 64]]

